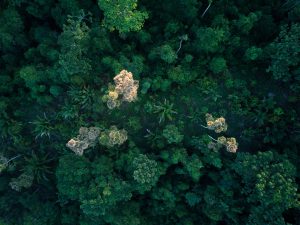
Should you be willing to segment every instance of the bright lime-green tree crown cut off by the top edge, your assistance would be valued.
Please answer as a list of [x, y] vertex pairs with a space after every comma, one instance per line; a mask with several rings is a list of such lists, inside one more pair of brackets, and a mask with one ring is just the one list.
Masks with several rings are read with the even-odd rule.
[[110, 31], [139, 31], [148, 18], [146, 12], [136, 9], [137, 0], [98, 0], [98, 5], [104, 12], [103, 24]]

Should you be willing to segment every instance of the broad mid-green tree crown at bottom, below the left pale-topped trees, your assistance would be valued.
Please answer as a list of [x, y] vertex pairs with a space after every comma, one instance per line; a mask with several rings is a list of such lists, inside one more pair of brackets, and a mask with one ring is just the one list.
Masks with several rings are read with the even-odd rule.
[[91, 168], [93, 178], [80, 194], [81, 210], [96, 221], [107, 222], [132, 197], [130, 183], [115, 173], [113, 166], [113, 161], [106, 156], [97, 159]]

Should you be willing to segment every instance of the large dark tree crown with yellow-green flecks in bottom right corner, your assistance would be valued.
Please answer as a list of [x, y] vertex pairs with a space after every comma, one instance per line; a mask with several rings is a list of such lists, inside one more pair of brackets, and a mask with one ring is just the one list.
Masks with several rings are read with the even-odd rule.
[[[250, 208], [251, 220], [255, 218], [262, 224], [271, 224], [274, 218], [283, 221], [285, 210], [299, 206], [294, 180], [296, 170], [286, 159], [270, 151], [257, 155], [242, 153], [232, 166], [242, 177], [245, 185], [242, 191], [247, 195], [247, 201], [256, 205]], [[261, 214], [265, 210], [267, 216]]]

